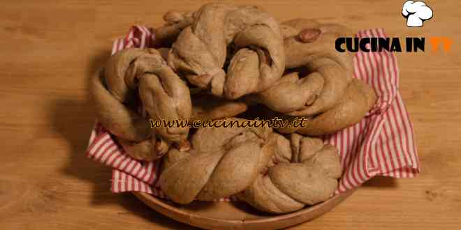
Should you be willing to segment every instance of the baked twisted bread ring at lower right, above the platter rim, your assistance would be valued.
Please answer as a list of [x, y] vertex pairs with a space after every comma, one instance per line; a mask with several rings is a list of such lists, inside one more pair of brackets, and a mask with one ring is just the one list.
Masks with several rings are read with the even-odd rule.
[[258, 174], [237, 197], [268, 213], [291, 213], [329, 199], [342, 174], [337, 149], [298, 134], [291, 135], [291, 141], [277, 139], [277, 164], [267, 174]]

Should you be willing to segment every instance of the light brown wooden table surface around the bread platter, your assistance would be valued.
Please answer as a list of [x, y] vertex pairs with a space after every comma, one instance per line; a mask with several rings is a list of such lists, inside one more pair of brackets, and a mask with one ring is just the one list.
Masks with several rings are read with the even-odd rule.
[[[131, 194], [85, 157], [94, 111], [89, 75], [133, 24], [205, 1], [2, 1], [0, 229], [189, 229]], [[434, 18], [409, 29], [395, 1], [236, 1], [279, 20], [321, 17], [390, 36], [447, 36], [450, 52], [397, 54], [400, 91], [422, 164], [414, 179], [374, 178], [317, 220], [292, 229], [460, 229], [461, 1], [426, 1]]]

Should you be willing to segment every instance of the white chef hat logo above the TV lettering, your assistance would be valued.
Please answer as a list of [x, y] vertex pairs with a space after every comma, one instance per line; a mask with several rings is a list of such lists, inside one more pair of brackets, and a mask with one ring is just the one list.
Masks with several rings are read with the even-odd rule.
[[421, 27], [425, 20], [432, 18], [432, 9], [422, 1], [406, 1], [402, 15], [407, 18], [407, 26]]

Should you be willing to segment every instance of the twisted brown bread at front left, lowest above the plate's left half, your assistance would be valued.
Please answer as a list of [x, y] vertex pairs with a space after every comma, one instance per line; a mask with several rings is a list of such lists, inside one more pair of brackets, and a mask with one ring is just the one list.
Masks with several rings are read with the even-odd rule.
[[198, 129], [190, 151], [172, 148], [163, 158], [162, 191], [176, 203], [189, 204], [245, 190], [270, 160], [271, 132], [270, 128]]

